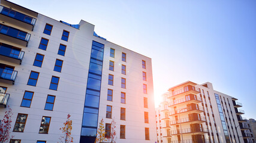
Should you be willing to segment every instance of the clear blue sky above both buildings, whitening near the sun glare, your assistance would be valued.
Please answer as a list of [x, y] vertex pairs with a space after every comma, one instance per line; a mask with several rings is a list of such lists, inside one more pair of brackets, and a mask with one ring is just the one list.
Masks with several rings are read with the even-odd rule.
[[171, 86], [211, 82], [256, 119], [254, 0], [11, 1], [70, 24], [88, 21], [108, 41], [152, 58], [156, 105]]

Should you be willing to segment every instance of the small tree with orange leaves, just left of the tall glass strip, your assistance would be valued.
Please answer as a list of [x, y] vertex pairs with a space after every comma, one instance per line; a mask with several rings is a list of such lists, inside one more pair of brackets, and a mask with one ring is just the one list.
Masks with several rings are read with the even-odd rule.
[[59, 130], [62, 130], [62, 133], [64, 134], [59, 138], [61, 143], [70, 143], [73, 142], [73, 137], [71, 136], [71, 130], [72, 130], [72, 120], [70, 120], [70, 114], [67, 116], [67, 120], [65, 123], [63, 123], [64, 127], [59, 128]]

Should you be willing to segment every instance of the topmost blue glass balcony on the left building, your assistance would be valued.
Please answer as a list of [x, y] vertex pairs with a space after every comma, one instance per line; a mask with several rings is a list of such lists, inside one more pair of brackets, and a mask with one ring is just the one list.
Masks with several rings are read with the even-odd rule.
[[4, 22], [11, 23], [28, 30], [33, 30], [35, 21], [37, 21], [36, 18], [11, 10], [7, 7], [3, 7], [2, 5], [0, 5], [0, 18], [4, 20]]

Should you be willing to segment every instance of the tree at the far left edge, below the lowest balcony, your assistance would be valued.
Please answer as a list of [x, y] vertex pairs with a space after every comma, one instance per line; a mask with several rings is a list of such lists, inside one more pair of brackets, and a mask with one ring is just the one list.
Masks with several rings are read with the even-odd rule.
[[8, 110], [5, 111], [4, 119], [2, 119], [0, 123], [0, 143], [9, 142], [9, 140], [14, 137], [10, 136], [11, 116], [13, 116], [13, 112], [9, 105], [7, 108]]

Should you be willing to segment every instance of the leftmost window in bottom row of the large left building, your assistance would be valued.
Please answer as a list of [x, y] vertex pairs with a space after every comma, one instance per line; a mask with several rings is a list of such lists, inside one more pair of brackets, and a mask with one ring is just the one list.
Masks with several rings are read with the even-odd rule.
[[26, 125], [26, 119], [28, 118], [28, 114], [18, 114], [13, 132], [23, 132], [25, 125]]

